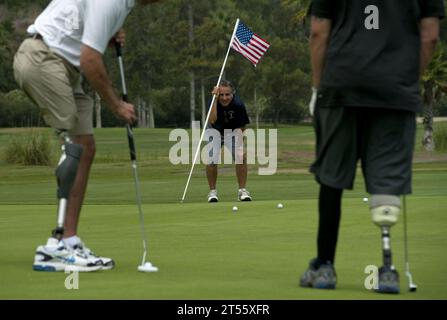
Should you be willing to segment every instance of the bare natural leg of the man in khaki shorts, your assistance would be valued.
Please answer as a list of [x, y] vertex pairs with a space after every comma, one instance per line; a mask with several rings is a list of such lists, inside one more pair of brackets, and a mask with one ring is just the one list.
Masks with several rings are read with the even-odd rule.
[[82, 203], [84, 202], [87, 190], [90, 168], [95, 157], [95, 138], [93, 135], [82, 135], [73, 138], [73, 142], [82, 144], [84, 151], [79, 163], [78, 173], [68, 199], [67, 216], [65, 219], [64, 238], [76, 235], [81, 214]]

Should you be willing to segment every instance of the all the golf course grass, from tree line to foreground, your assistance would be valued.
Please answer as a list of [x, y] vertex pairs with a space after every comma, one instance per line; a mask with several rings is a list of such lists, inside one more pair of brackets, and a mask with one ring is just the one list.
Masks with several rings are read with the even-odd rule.
[[[44, 132], [51, 132], [44, 129]], [[112, 271], [79, 275], [79, 289], [67, 290], [64, 273], [31, 269], [56, 218], [51, 167], [7, 165], [0, 160], [0, 299], [447, 299], [447, 157], [417, 148], [414, 192], [407, 198], [409, 258], [418, 291], [407, 291], [403, 224], [392, 229], [400, 295], [365, 289], [369, 265], [381, 265], [380, 231], [363, 203], [361, 175], [345, 193], [336, 256], [337, 290], [298, 286], [315, 255], [318, 185], [307, 167], [313, 159], [310, 126], [278, 130], [278, 172], [257, 175], [248, 189], [254, 201], [236, 201], [231, 165], [219, 171], [220, 202], [205, 202], [208, 188], [198, 165], [186, 201], [180, 199], [190, 169], [169, 163], [168, 129], [136, 129], [149, 260], [158, 273], [137, 272], [143, 246], [124, 129], [96, 131], [95, 162], [82, 211], [80, 236], [115, 259]], [[20, 130], [0, 130], [0, 155]], [[418, 137], [418, 144], [420, 137]], [[278, 209], [277, 204], [284, 204]], [[232, 212], [237, 205], [239, 210]]]

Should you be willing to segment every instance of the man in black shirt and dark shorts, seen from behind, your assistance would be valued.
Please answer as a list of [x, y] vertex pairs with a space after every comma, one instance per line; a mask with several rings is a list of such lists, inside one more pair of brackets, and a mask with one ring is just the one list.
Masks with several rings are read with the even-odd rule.
[[314, 0], [313, 97], [320, 184], [318, 255], [302, 287], [334, 289], [335, 249], [344, 189], [361, 159], [373, 222], [381, 228], [384, 266], [376, 291], [399, 292], [389, 232], [400, 196], [411, 193], [419, 79], [444, 16], [442, 0]]

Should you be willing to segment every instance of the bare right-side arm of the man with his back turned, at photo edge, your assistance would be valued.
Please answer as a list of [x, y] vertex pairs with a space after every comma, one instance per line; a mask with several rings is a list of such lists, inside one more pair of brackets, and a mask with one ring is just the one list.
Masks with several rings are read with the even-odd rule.
[[439, 18], [421, 20], [421, 75], [430, 64], [436, 43], [439, 39]]

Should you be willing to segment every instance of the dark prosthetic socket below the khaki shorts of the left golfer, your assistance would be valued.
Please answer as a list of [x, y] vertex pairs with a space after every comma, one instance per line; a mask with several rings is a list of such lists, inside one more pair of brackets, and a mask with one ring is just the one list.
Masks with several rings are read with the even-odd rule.
[[68, 199], [71, 187], [73, 186], [78, 172], [79, 161], [82, 155], [82, 145], [65, 143], [63, 150], [64, 153], [56, 168], [58, 184], [57, 197], [59, 199]]

